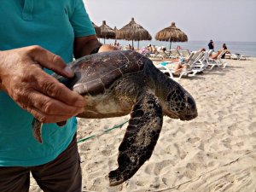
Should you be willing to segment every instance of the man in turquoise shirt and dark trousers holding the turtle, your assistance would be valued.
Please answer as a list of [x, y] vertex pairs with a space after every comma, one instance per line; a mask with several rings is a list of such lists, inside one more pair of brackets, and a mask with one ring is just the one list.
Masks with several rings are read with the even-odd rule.
[[[106, 47], [96, 38], [83, 0], [3, 0], [0, 28], [0, 191], [27, 192], [31, 172], [44, 191], [80, 192], [73, 116], [83, 111], [84, 98], [49, 73], [72, 78], [66, 63], [73, 55]], [[45, 123], [43, 144], [32, 137], [33, 117]]]

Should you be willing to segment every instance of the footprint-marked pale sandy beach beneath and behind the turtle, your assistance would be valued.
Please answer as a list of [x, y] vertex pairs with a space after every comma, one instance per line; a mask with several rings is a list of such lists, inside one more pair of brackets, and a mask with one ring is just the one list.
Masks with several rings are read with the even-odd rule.
[[[225, 60], [178, 82], [194, 96], [198, 117], [164, 118], [151, 158], [127, 182], [108, 186], [117, 168], [119, 144], [129, 115], [113, 119], [79, 119], [83, 191], [96, 192], [255, 192], [256, 191], [256, 58]], [[31, 192], [41, 191], [32, 181]]]

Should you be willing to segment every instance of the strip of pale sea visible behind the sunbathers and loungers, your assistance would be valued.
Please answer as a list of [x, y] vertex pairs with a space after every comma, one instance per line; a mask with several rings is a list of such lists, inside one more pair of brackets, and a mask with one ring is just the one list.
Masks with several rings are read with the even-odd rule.
[[[104, 40], [101, 38], [99, 39], [101, 43], [104, 42]], [[128, 45], [131, 44], [131, 41], [125, 41], [125, 40], [117, 40], [117, 42], [121, 45]], [[253, 56], [256, 57], [256, 42], [233, 42], [233, 41], [213, 41], [215, 44], [215, 50], [221, 49], [223, 44], [226, 44], [228, 49], [233, 54], [241, 54], [245, 56]], [[105, 39], [105, 44], [113, 44], [114, 39]], [[178, 42], [178, 43], [172, 43], [171, 49], [176, 49], [179, 45], [182, 49], [189, 49], [190, 51], [198, 50], [201, 48], [208, 49], [208, 41], [188, 41], [188, 42]], [[139, 48], [146, 47], [148, 44], [152, 44], [155, 46], [165, 46], [166, 49], [169, 49], [170, 43], [164, 42], [164, 41], [140, 41], [139, 42]], [[137, 48], [138, 44], [137, 41], [133, 42], [133, 46]]]

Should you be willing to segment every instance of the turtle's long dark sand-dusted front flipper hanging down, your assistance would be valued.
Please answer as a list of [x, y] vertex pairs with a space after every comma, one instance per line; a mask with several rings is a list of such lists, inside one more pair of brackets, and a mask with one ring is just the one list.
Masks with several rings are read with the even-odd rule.
[[150, 158], [162, 124], [159, 99], [151, 93], [143, 93], [133, 106], [125, 137], [119, 146], [119, 167], [108, 174], [110, 186], [131, 178]]

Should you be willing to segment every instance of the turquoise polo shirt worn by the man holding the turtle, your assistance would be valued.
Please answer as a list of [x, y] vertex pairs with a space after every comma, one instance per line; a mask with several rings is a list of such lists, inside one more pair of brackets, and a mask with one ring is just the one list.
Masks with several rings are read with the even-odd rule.
[[[40, 45], [69, 62], [74, 38], [93, 34], [82, 0], [1, 0], [0, 50]], [[32, 137], [32, 119], [0, 90], [0, 166], [38, 166], [54, 160], [76, 132], [75, 118], [61, 128], [44, 124], [40, 144]]]

